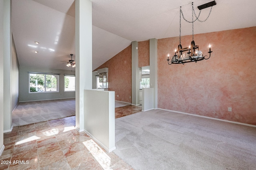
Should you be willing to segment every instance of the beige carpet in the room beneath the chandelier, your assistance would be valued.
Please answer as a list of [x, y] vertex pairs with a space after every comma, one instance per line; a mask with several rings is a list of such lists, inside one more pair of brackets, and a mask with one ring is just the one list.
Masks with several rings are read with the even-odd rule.
[[256, 128], [160, 109], [116, 119], [116, 150], [135, 170], [256, 170]]

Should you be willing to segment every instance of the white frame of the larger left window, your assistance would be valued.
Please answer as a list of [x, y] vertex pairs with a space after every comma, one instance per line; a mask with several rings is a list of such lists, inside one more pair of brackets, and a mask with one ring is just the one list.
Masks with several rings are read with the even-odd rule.
[[[44, 92], [30, 92], [30, 74], [43, 74], [44, 75]], [[46, 75], [57, 76], [56, 77], [56, 91], [46, 91]], [[37, 94], [37, 93], [59, 93], [60, 92], [60, 74], [55, 73], [44, 73], [44, 72], [28, 72], [28, 93]]]

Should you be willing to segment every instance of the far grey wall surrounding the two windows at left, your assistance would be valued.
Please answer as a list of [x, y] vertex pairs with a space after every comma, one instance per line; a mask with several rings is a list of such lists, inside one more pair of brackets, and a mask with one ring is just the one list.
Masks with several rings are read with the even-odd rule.
[[[28, 75], [29, 71], [30, 72], [45, 72], [45, 73], [60, 74], [59, 92], [29, 93], [29, 75]], [[65, 87], [64, 74], [74, 75], [75, 72], [71, 71], [71, 70], [58, 70], [58, 69], [33, 68], [33, 67], [27, 67], [27, 66], [20, 66], [20, 72], [19, 72], [19, 100], [20, 100], [20, 102], [75, 98], [76, 92], [64, 92], [64, 87]]]

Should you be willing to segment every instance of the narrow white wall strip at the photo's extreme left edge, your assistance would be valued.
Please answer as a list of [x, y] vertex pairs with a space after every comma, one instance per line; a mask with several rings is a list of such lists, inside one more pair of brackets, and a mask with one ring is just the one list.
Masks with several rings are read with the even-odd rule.
[[4, 149], [4, 0], [0, 0], [0, 156]]

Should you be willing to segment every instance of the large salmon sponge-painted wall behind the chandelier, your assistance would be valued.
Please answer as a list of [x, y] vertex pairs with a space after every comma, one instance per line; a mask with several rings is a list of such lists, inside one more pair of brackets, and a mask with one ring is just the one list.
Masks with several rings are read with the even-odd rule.
[[[182, 47], [191, 41], [182, 36]], [[194, 41], [204, 55], [212, 45], [210, 59], [168, 65], [179, 37], [158, 39], [158, 108], [256, 125], [256, 27], [197, 34]]]

